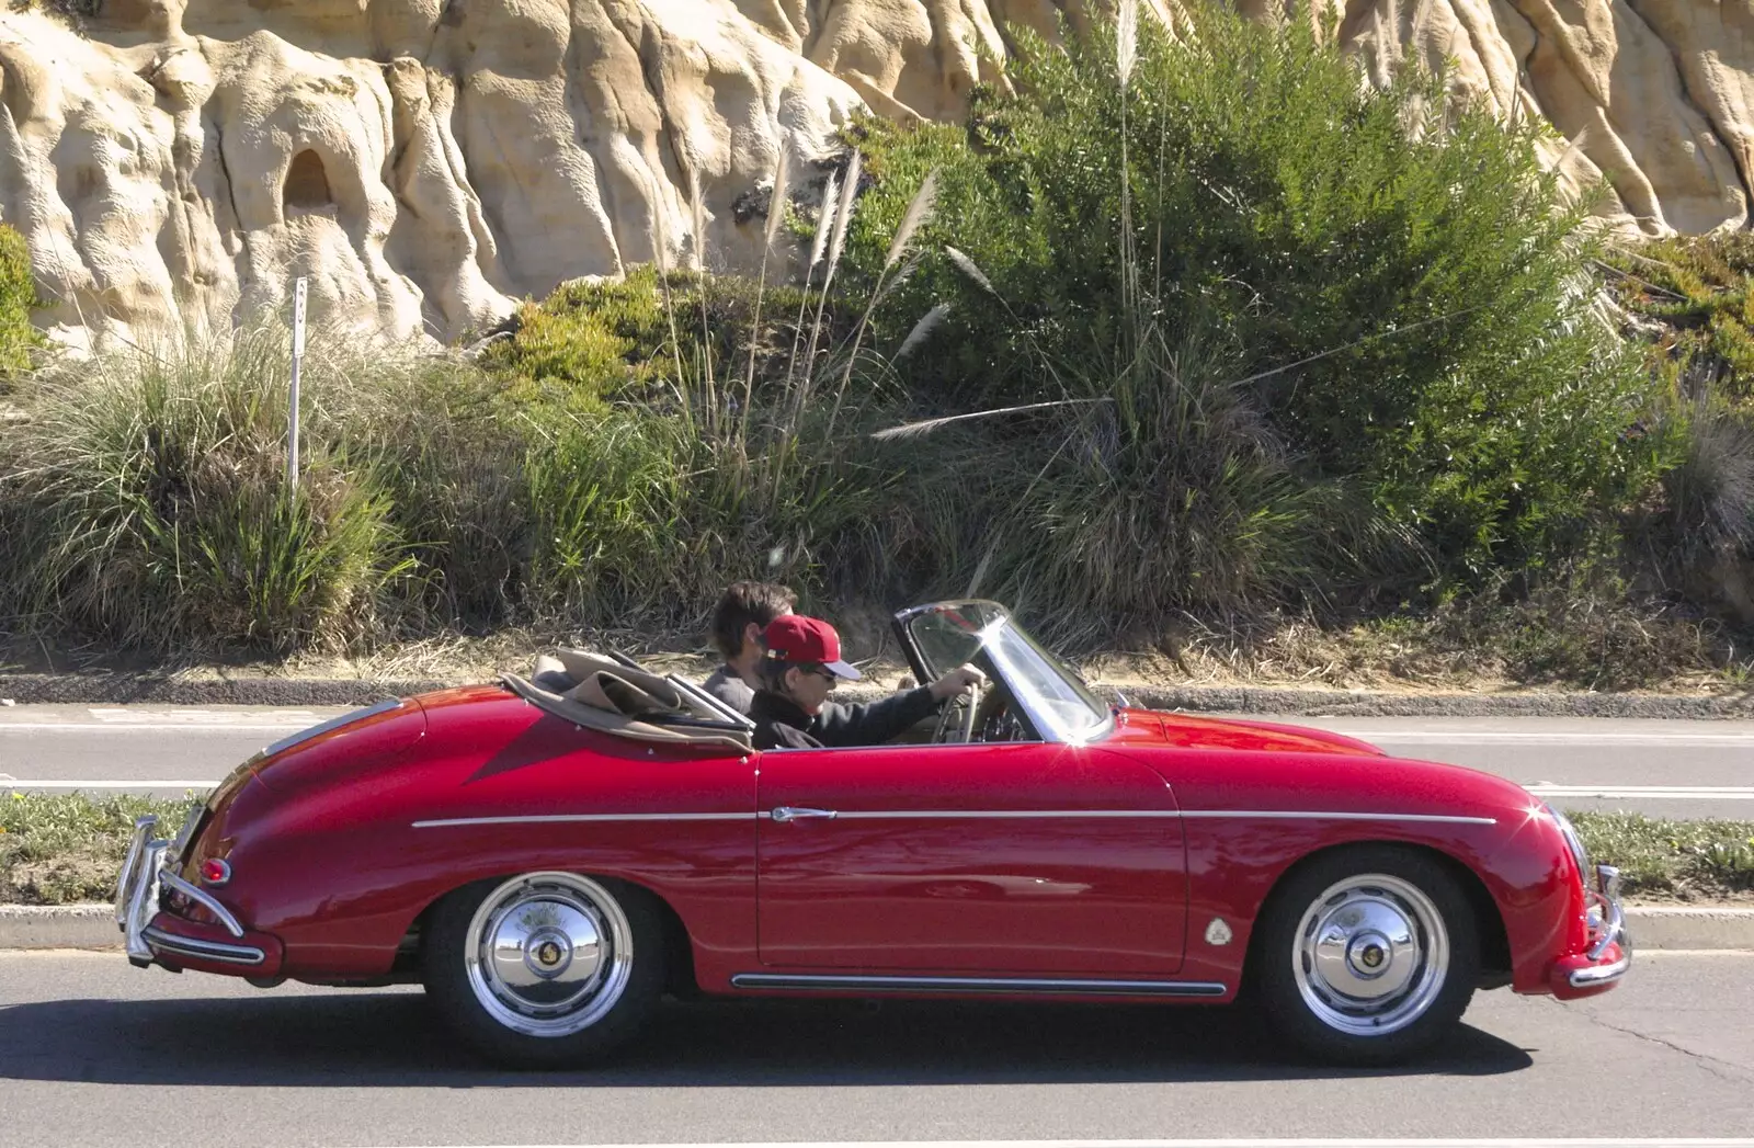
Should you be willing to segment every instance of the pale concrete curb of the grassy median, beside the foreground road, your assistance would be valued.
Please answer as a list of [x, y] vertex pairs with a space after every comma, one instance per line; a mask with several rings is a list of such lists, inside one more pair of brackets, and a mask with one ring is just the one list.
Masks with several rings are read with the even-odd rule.
[[[1626, 929], [1635, 950], [1754, 951], [1754, 909], [1633, 906]], [[112, 906], [0, 904], [0, 950], [121, 950]]]

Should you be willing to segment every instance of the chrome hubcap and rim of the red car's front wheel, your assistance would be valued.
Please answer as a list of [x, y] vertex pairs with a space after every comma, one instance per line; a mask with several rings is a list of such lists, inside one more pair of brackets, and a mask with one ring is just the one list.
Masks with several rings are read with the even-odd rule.
[[1449, 930], [1417, 886], [1386, 874], [1331, 885], [1303, 913], [1291, 953], [1298, 992], [1330, 1029], [1384, 1036], [1444, 988]]

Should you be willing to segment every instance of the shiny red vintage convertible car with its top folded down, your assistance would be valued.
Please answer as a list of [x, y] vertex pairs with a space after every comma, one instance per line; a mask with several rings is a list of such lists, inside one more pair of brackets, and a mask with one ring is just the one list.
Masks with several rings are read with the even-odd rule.
[[419, 981], [489, 1058], [570, 1065], [679, 995], [1252, 1001], [1328, 1060], [1410, 1057], [1477, 988], [1605, 992], [1617, 872], [1489, 774], [1102, 702], [993, 602], [896, 616], [989, 686], [912, 741], [754, 751], [677, 676], [567, 651], [268, 746], [142, 818], [137, 965]]

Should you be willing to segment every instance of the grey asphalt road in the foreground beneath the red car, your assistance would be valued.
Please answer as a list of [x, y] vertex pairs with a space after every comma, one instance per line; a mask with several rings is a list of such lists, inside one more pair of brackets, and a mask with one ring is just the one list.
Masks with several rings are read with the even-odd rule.
[[1754, 955], [1480, 994], [1398, 1071], [1287, 1060], [1233, 1009], [891, 1001], [665, 1006], [616, 1067], [510, 1074], [417, 990], [0, 953], [0, 1113], [9, 1148], [1754, 1136]]

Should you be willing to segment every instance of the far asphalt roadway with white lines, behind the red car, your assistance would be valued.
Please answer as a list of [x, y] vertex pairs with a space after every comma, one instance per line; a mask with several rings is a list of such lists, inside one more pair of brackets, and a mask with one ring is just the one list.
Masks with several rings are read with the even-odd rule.
[[[181, 793], [340, 709], [0, 709], [0, 785]], [[1300, 721], [1300, 720], [1291, 720]], [[1391, 753], [1487, 769], [1566, 809], [1754, 820], [1754, 723], [1307, 718]]]

